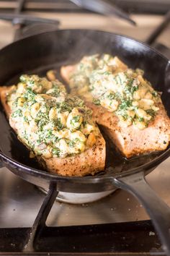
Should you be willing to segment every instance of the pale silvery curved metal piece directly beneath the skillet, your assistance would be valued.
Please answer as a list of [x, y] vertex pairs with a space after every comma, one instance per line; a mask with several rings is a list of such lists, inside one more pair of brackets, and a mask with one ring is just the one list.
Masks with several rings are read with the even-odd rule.
[[[42, 187], [37, 187], [42, 191], [43, 193], [47, 194], [48, 189], [44, 189]], [[104, 197], [107, 197], [108, 195], [115, 192], [117, 188], [104, 191], [104, 192], [97, 192], [97, 193], [68, 193], [68, 192], [59, 192], [58, 196], [56, 197], [56, 200], [59, 202], [66, 202], [74, 205], [78, 204], [84, 204], [88, 202], [95, 202], [97, 200], [100, 200]]]

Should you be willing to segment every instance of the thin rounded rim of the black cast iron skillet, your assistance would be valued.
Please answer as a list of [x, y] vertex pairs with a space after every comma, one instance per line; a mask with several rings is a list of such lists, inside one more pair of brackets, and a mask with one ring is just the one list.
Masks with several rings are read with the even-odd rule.
[[[167, 64], [169, 64], [169, 59], [166, 58], [166, 56], [164, 56], [163, 54], [161, 54], [160, 52], [158, 52], [155, 48], [148, 46], [146, 43], [143, 43], [140, 40], [136, 40], [135, 38], [131, 38], [127, 35], [122, 35], [122, 34], [117, 34], [117, 33], [112, 33], [112, 32], [107, 32], [107, 31], [103, 31], [103, 30], [89, 30], [89, 29], [63, 29], [63, 30], [53, 30], [53, 31], [49, 31], [49, 32], [45, 32], [45, 33], [39, 33], [37, 35], [31, 35], [27, 38], [22, 38], [20, 40], [15, 41], [14, 43], [10, 43], [9, 45], [5, 46], [4, 48], [2, 48], [0, 50], [1, 54], [3, 54], [4, 51], [8, 51], [8, 48], [11, 48], [14, 45], [17, 45], [18, 43], [20, 43], [21, 41], [27, 41], [27, 40], [31, 40], [31, 38], [36, 38], [36, 37], [40, 37], [40, 35], [48, 35], [48, 34], [53, 34], [53, 33], [64, 33], [64, 32], [91, 32], [91, 33], [104, 33], [104, 34], [109, 34], [109, 35], [115, 35], [116, 37], [120, 37], [120, 38], [125, 38], [128, 40], [132, 40], [135, 43], [141, 44], [142, 46], [144, 46], [145, 48], [148, 48], [148, 50], [153, 51], [155, 54], [157, 54], [158, 56], [161, 56], [162, 59], [164, 59], [164, 61], [166, 61]], [[136, 168], [131, 168], [128, 171], [122, 171], [120, 173], [113, 173], [113, 174], [104, 174], [103, 176], [61, 176], [58, 174], [52, 174], [48, 171], [42, 171], [40, 169], [37, 168], [33, 168], [33, 167], [29, 167], [24, 165], [23, 163], [19, 163], [18, 161], [13, 160], [12, 158], [8, 157], [6, 154], [2, 153], [0, 150], [0, 158], [2, 160], [2, 162], [8, 164], [9, 166], [13, 165], [15, 168], [17, 168], [17, 170], [20, 172], [24, 172], [27, 171], [28, 174], [32, 175], [32, 176], [38, 176], [41, 175], [41, 178], [43, 179], [52, 179], [53, 181], [73, 181], [73, 182], [83, 182], [85, 183], [96, 183], [96, 182], [101, 182], [104, 181], [108, 178], [119, 178], [122, 176], [128, 176], [130, 174], [135, 174], [138, 173], [140, 171], [148, 171], [151, 168], [156, 168], [156, 166], [158, 166], [158, 164], [160, 164], [161, 162], [163, 162], [164, 160], [166, 160], [166, 158], [168, 158], [170, 156], [170, 146], [168, 148], [166, 148], [166, 150], [164, 150], [163, 153], [161, 153], [161, 155], [156, 156], [156, 158], [154, 158], [152, 161], [149, 161], [148, 163], [143, 164], [142, 166], [138, 166]], [[5, 164], [5, 166], [6, 166]], [[112, 168], [112, 167], [110, 167]], [[10, 169], [10, 168], [9, 168]]]

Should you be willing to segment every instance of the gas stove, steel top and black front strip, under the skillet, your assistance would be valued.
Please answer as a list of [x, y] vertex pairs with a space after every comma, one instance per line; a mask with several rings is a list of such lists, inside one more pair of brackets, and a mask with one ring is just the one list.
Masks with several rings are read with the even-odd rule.
[[[10, 2], [10, 1], [9, 1]], [[61, 2], [61, 1], [60, 1]], [[64, 1], [65, 2], [65, 1]], [[12, 4], [12, 2], [11, 2]], [[47, 3], [46, 3], [47, 4]], [[62, 3], [61, 3], [62, 4]], [[65, 3], [66, 4], [66, 3]], [[1, 7], [1, 1], [0, 1]], [[71, 5], [71, 8], [73, 6]], [[4, 9], [3, 9], [4, 10]], [[1, 11], [1, 9], [0, 9]], [[146, 41], [152, 31], [164, 20], [162, 14], [136, 14], [130, 17], [137, 26], [133, 27], [117, 17], [104, 17], [93, 12], [50, 12], [26, 9], [30, 17], [58, 20], [43, 25], [32, 23], [22, 27], [19, 36], [24, 37], [37, 31], [87, 28], [107, 30]], [[14, 23], [14, 22], [13, 22]], [[47, 25], [48, 24], [48, 25]], [[40, 26], [40, 27], [38, 27]], [[46, 27], [45, 27], [46, 26]], [[14, 40], [20, 25], [0, 22], [0, 47]], [[37, 29], [37, 30], [36, 30]], [[17, 31], [18, 32], [18, 31]], [[170, 58], [170, 27], [154, 42], [153, 46]], [[17, 38], [15, 37], [17, 40]], [[158, 195], [170, 206], [170, 159], [161, 163], [146, 179]], [[111, 195], [95, 202], [69, 204], [55, 200], [35, 248], [24, 249], [24, 241], [32, 227], [45, 194], [34, 185], [12, 174], [7, 168], [0, 170], [0, 255], [164, 255], [161, 242], [140, 202], [132, 195], [117, 189]]]

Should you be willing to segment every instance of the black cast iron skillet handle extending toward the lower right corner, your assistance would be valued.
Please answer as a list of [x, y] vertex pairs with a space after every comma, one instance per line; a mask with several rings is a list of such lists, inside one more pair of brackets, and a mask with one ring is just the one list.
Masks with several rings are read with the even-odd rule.
[[170, 256], [170, 208], [146, 182], [143, 172], [115, 178], [117, 187], [125, 189], [142, 203], [161, 239], [166, 255]]

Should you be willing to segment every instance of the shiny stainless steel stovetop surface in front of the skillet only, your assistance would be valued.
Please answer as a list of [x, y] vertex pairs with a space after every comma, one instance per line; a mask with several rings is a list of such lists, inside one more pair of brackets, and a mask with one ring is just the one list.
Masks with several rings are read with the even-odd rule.
[[[170, 158], [147, 176], [151, 187], [170, 206]], [[29, 227], [37, 216], [45, 195], [34, 185], [6, 168], [0, 171], [0, 228]], [[48, 226], [89, 225], [148, 219], [142, 205], [128, 192], [117, 189], [102, 200], [71, 205], [55, 202]]]

